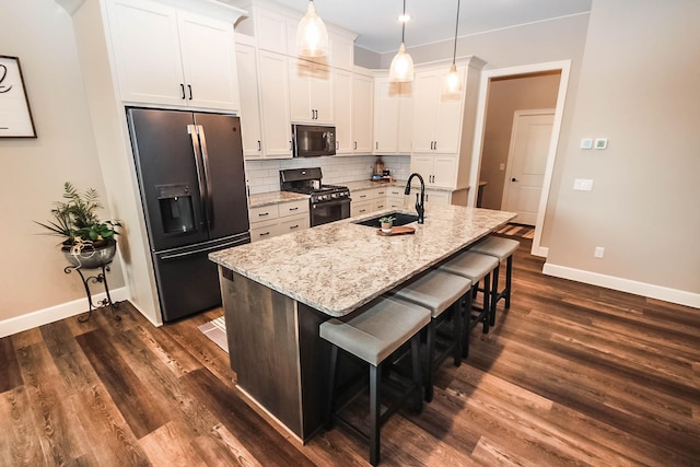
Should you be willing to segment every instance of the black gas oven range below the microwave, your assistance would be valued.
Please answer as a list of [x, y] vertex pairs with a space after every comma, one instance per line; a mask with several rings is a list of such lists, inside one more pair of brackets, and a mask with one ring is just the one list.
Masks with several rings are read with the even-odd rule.
[[337, 185], [323, 185], [320, 167], [288, 168], [280, 171], [280, 189], [308, 195], [310, 223], [316, 225], [350, 217], [350, 189]]

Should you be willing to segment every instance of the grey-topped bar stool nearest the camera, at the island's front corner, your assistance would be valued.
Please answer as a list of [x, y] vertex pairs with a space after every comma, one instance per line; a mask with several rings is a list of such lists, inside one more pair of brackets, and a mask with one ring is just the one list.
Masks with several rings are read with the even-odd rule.
[[[330, 342], [330, 372], [325, 428], [339, 421], [370, 442], [370, 463], [380, 463], [380, 430], [408, 397], [416, 396], [416, 409], [422, 409], [422, 378], [420, 365], [420, 331], [430, 323], [430, 310], [393, 300], [381, 299], [368, 310], [343, 323], [331, 318], [319, 326], [322, 338]], [[404, 343], [411, 341], [412, 381], [404, 388], [399, 400], [381, 413], [381, 382], [384, 362]], [[370, 433], [366, 434], [335, 411], [338, 349], [370, 365]]]

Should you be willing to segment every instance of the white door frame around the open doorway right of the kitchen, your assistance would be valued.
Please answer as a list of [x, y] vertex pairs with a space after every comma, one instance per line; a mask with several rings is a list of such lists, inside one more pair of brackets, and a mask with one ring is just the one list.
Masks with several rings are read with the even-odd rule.
[[[555, 170], [555, 160], [557, 157], [557, 148], [559, 144], [559, 133], [561, 131], [561, 121], [563, 119], [564, 103], [567, 100], [567, 90], [569, 87], [569, 77], [571, 72], [571, 60], [550, 61], [544, 63], [523, 65], [518, 67], [499, 68], [493, 70], [485, 70], [481, 73], [479, 84], [479, 101], [477, 104], [477, 117], [475, 127], [474, 149], [471, 151], [471, 170], [469, 174], [469, 186], [477, 187], [479, 185], [479, 172], [481, 170], [481, 153], [483, 151], [483, 138], [486, 130], [487, 104], [489, 96], [489, 87], [493, 78], [515, 77], [520, 74], [532, 74], [544, 71], [559, 71], [559, 93], [557, 94], [557, 105], [555, 106], [555, 120], [551, 128], [551, 141], [549, 152], [547, 154], [547, 165], [545, 167], [545, 178], [542, 180], [542, 192], [539, 198], [539, 207], [537, 210], [537, 222], [535, 224], [535, 237], [533, 238], [533, 248], [530, 254], [547, 257], [549, 248], [541, 246], [542, 226], [545, 223], [545, 214], [547, 202], [549, 201], [549, 190], [551, 188], [551, 178]], [[476, 206], [477, 190], [470, 189], [467, 206]]]

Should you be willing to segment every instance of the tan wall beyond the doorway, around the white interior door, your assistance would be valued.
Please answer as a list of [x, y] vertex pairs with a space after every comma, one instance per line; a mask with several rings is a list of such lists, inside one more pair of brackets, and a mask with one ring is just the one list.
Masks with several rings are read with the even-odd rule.
[[[553, 109], [560, 73], [492, 80], [489, 85], [479, 179], [486, 182], [482, 208], [501, 209], [515, 110]], [[504, 170], [500, 168], [504, 164]]]

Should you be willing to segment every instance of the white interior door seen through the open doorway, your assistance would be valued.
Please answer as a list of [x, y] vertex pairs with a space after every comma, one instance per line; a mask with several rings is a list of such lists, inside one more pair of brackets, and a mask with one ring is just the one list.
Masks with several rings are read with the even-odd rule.
[[553, 110], [518, 110], [513, 118], [503, 209], [517, 212], [521, 224], [537, 222], [553, 119]]

